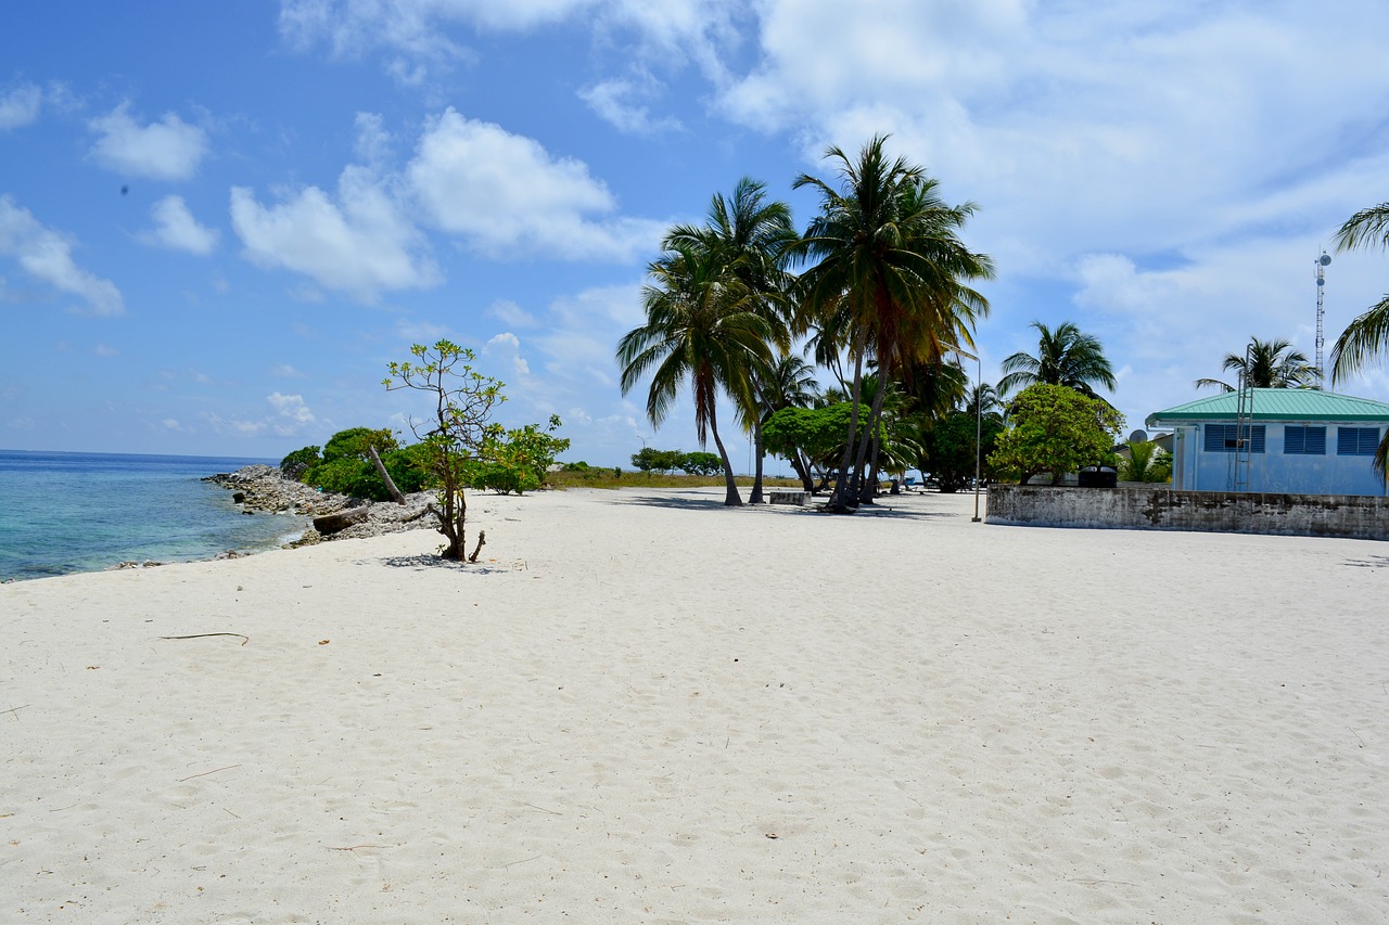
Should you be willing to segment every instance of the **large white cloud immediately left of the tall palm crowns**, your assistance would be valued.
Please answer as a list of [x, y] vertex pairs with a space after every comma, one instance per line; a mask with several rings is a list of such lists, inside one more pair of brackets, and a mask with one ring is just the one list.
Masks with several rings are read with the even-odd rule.
[[610, 217], [617, 200], [581, 161], [449, 108], [431, 121], [407, 168], [429, 221], [490, 257], [635, 260], [664, 224]]

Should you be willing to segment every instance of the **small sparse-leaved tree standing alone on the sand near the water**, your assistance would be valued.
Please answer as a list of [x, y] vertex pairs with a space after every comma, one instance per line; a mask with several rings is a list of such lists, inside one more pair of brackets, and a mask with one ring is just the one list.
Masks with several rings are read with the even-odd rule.
[[[442, 556], [461, 562], [465, 561], [464, 522], [468, 515], [463, 489], [489, 436], [500, 431], [500, 425], [492, 424], [492, 408], [506, 401], [506, 396], [500, 382], [469, 365], [476, 357], [465, 347], [440, 340], [432, 347], [417, 343], [410, 353], [415, 362], [392, 362], [390, 378], [383, 385], [388, 392], [414, 389], [433, 400], [433, 417], [411, 419], [410, 429], [426, 447], [426, 464], [439, 483], [439, 503], [431, 504], [429, 511], [439, 519], [439, 532], [447, 540]], [[486, 535], [479, 531], [478, 544], [467, 561], [478, 561], [485, 542]]]

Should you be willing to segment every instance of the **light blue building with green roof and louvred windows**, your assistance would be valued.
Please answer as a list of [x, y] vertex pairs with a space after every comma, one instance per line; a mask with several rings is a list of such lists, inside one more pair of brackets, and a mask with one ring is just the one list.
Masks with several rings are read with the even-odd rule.
[[1375, 449], [1389, 431], [1383, 401], [1317, 389], [1247, 389], [1243, 408], [1240, 393], [1226, 392], [1150, 414], [1147, 425], [1174, 429], [1176, 490], [1386, 494], [1374, 469]]

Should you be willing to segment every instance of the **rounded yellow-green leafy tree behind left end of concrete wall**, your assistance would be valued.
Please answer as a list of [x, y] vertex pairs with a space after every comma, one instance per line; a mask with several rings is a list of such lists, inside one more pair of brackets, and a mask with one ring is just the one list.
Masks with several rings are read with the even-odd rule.
[[1011, 426], [997, 440], [989, 464], [1022, 485], [1050, 472], [1057, 485], [1067, 472], [1110, 465], [1124, 415], [1103, 399], [1063, 385], [1028, 386], [1008, 408]]

